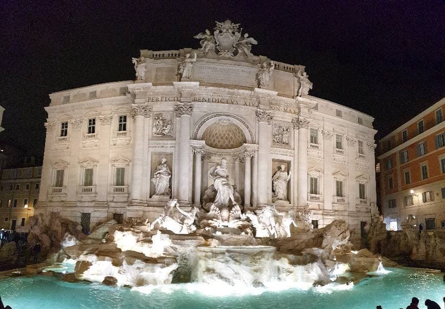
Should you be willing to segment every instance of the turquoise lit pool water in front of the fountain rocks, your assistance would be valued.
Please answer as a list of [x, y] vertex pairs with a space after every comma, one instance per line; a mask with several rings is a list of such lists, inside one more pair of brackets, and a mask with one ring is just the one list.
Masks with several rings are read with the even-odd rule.
[[[443, 274], [422, 269], [391, 269], [391, 273], [367, 278], [354, 287], [338, 286], [288, 289], [261, 294], [211, 296], [219, 287], [210, 284], [170, 284], [145, 293], [98, 283], [67, 283], [53, 277], [8, 278], [0, 281], [0, 295], [13, 309], [27, 308], [406, 308], [411, 297], [430, 298], [443, 308]], [[347, 290], [335, 290], [345, 289]], [[419, 308], [426, 308], [421, 305]]]

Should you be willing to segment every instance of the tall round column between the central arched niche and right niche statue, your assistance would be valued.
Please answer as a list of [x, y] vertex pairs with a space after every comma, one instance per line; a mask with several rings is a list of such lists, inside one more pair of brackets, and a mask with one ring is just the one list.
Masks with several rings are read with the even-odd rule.
[[269, 171], [271, 158], [271, 126], [272, 116], [269, 111], [258, 109], [256, 112], [258, 120], [258, 204], [266, 205], [271, 196], [271, 173]]

